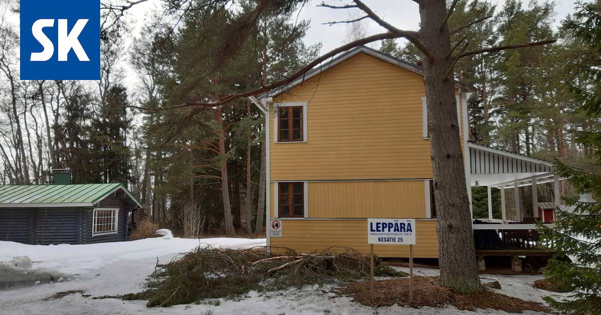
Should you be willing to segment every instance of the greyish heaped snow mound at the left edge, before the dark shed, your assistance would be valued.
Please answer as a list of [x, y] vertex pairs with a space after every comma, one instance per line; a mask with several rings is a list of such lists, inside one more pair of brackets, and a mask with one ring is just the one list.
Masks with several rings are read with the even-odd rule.
[[42, 281], [52, 282], [63, 279], [66, 274], [50, 268], [34, 268], [28, 256], [16, 256], [10, 261], [0, 262], [0, 284], [11, 286], [13, 284], [34, 283], [36, 286]]

